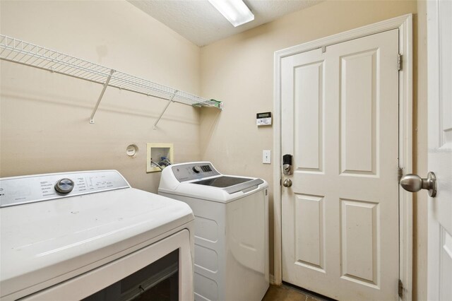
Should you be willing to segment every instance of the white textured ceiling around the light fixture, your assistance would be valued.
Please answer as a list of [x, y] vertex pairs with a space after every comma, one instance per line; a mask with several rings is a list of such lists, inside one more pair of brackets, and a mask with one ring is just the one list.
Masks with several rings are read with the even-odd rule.
[[242, 33], [322, 0], [244, 0], [254, 20], [234, 28], [207, 0], [128, 0], [198, 46]]

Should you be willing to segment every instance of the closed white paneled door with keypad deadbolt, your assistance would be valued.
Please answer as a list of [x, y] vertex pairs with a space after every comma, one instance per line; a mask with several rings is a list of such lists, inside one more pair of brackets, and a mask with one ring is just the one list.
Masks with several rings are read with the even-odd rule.
[[283, 281], [398, 300], [398, 30], [282, 61]]

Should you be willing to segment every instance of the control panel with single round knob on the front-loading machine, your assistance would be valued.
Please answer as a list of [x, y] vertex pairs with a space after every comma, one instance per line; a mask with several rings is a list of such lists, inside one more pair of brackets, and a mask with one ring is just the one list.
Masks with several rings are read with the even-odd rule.
[[129, 187], [116, 170], [7, 177], [0, 179], [0, 208]]

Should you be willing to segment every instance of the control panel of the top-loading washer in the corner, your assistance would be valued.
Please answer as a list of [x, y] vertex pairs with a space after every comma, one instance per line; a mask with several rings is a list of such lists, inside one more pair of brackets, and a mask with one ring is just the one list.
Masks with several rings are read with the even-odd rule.
[[194, 162], [171, 165], [172, 173], [179, 182], [191, 181], [192, 179], [202, 179], [220, 175], [210, 162]]

